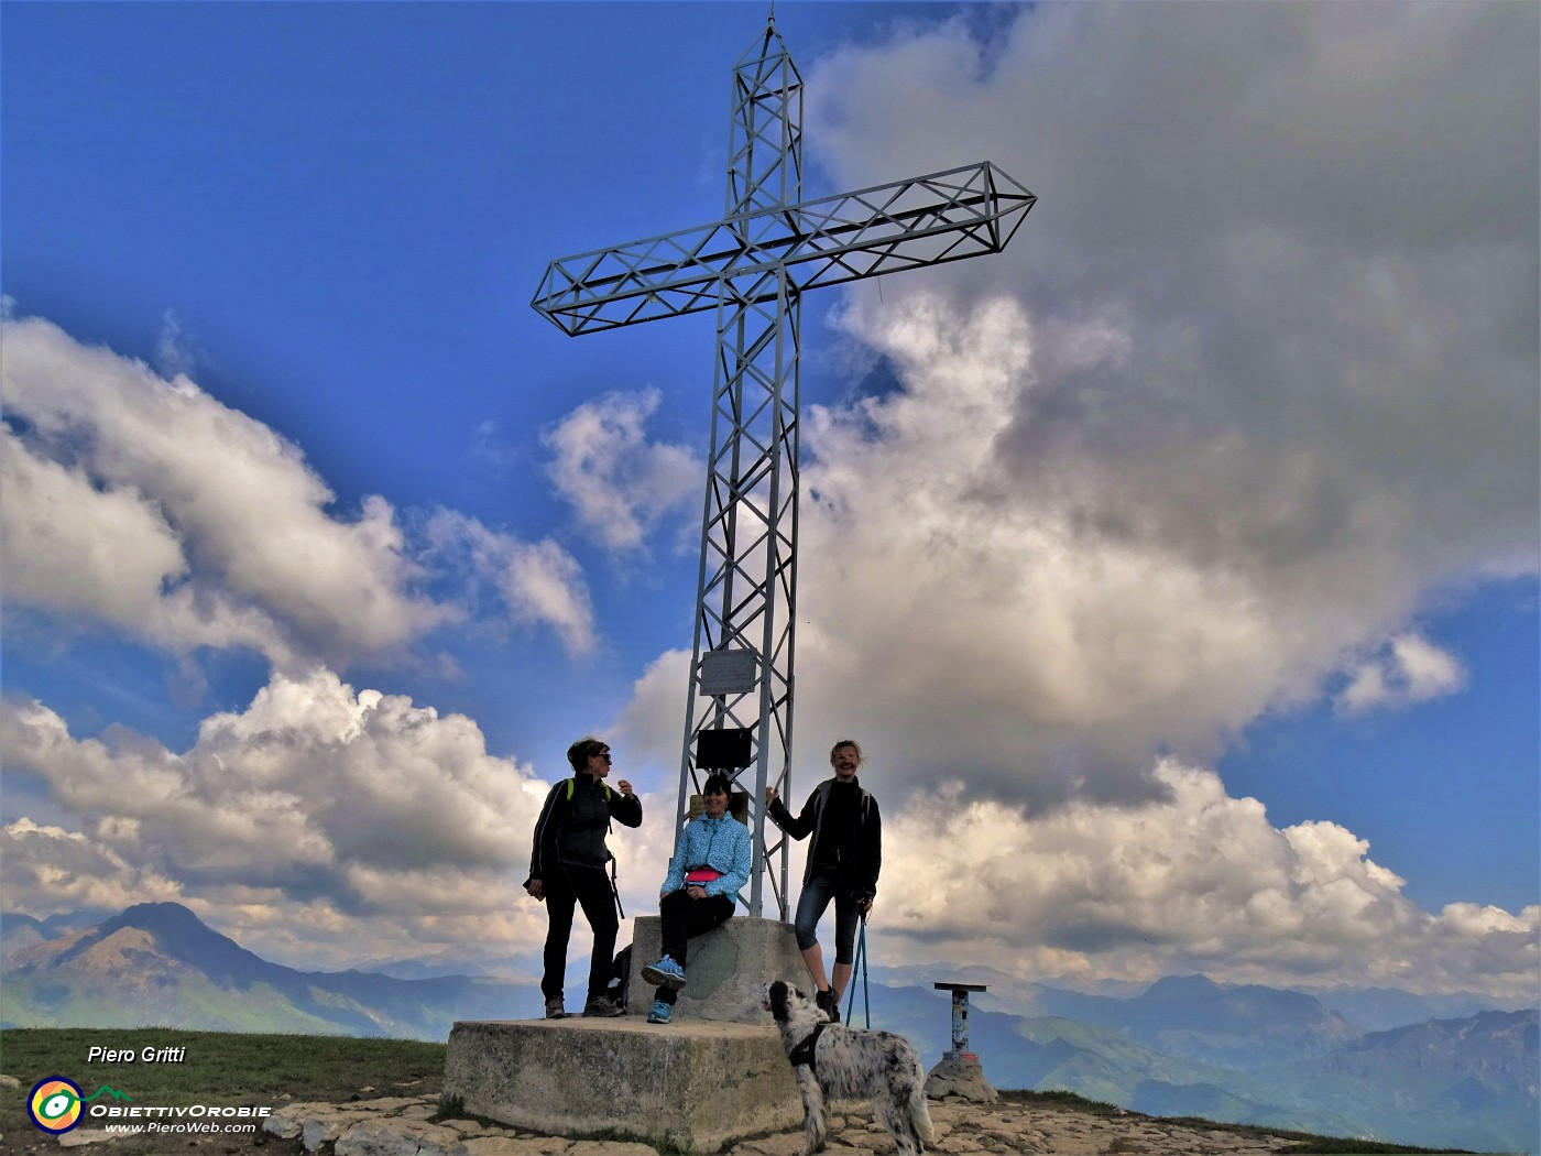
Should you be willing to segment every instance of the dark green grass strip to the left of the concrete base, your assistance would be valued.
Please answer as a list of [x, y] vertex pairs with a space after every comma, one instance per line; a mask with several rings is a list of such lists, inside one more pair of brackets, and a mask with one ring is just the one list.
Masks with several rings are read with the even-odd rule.
[[[131, 1051], [133, 1064], [88, 1064], [92, 1047]], [[180, 1064], [145, 1064], [145, 1048], [186, 1048]], [[6, 1028], [0, 1073], [22, 1087], [0, 1094], [5, 1151], [57, 1151], [59, 1141], [32, 1127], [26, 1094], [37, 1080], [65, 1076], [86, 1096], [106, 1085], [137, 1105], [280, 1108], [291, 1101], [342, 1104], [370, 1096], [439, 1096], [442, 1043], [351, 1036], [276, 1036], [173, 1028]], [[374, 1088], [362, 1093], [362, 1088]], [[280, 1099], [287, 1096], [287, 1099]], [[109, 1097], [103, 1097], [106, 1102]], [[100, 1127], [88, 1122], [82, 1127]], [[165, 1153], [190, 1136], [146, 1134], [117, 1141], [114, 1156]], [[247, 1150], [250, 1136], [205, 1136], [211, 1151]]]

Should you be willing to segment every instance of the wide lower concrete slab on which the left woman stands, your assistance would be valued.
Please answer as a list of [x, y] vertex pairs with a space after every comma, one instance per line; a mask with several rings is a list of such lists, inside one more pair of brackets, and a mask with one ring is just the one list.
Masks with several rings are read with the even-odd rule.
[[603, 1133], [700, 1153], [803, 1122], [775, 1030], [700, 1019], [456, 1023], [444, 1094], [459, 1096], [465, 1114], [547, 1136]]

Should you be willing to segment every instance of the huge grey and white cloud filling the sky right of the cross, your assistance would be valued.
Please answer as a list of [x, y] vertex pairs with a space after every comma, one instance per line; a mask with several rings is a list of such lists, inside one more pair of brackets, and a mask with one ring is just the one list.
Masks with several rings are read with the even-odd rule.
[[1382, 647], [1385, 686], [1458, 691], [1392, 640], [1536, 567], [1536, 14], [989, 23], [807, 69], [840, 185], [989, 159], [1040, 200], [834, 314], [897, 388], [804, 425], [797, 734], [1122, 800]]

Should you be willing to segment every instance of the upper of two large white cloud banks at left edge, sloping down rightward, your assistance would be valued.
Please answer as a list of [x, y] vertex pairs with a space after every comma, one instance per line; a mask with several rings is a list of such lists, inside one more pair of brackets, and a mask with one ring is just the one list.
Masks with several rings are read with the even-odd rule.
[[186, 652], [388, 655], [453, 618], [390, 504], [328, 512], [299, 450], [188, 378], [5, 322], [6, 596]]

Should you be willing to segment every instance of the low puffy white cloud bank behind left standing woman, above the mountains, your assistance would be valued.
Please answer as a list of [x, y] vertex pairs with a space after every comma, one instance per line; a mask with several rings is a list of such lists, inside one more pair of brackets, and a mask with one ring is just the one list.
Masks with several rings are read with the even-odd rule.
[[[470, 718], [331, 670], [274, 674], [186, 751], [123, 728], [76, 738], [48, 706], [0, 700], [0, 761], [69, 815], [0, 834], [17, 911], [176, 900], [259, 954], [319, 968], [465, 945], [529, 956], [546, 936], [522, 880], [549, 783], [490, 754]], [[610, 840], [629, 914], [656, 909], [672, 851], [672, 805], [644, 806], [644, 829]]]

